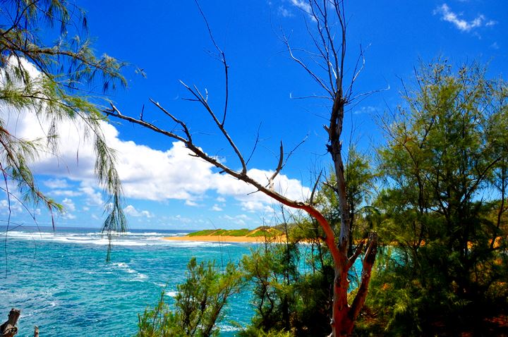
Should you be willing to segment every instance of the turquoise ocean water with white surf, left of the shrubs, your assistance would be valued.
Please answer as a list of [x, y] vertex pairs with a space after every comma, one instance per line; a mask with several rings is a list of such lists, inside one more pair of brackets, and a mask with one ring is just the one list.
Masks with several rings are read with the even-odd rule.
[[[132, 336], [138, 313], [155, 305], [165, 286], [171, 302], [188, 259], [238, 262], [252, 247], [160, 240], [188, 231], [131, 231], [114, 241], [106, 263], [107, 240], [97, 229], [14, 228], [6, 241], [5, 228], [0, 233], [0, 323], [20, 308], [20, 337], [33, 336], [34, 325], [40, 336]], [[234, 336], [230, 321], [246, 326], [253, 315], [248, 291], [234, 295], [227, 310], [221, 336]]]

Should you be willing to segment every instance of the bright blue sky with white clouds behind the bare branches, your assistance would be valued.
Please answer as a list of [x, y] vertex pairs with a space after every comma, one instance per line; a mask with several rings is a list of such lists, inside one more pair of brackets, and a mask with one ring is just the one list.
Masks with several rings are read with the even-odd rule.
[[[295, 48], [311, 49], [301, 0], [202, 1], [217, 43], [226, 52], [230, 72], [229, 117], [226, 127], [246, 154], [257, 130], [260, 145], [250, 162], [251, 173], [262, 179], [277, 165], [278, 144], [291, 149], [306, 138], [284, 168], [281, 189], [291, 197], [308, 192], [313, 174], [327, 168], [327, 137], [322, 129], [327, 102], [291, 99], [320, 95], [320, 88], [289, 59], [279, 39], [282, 31]], [[125, 90], [110, 99], [123, 114], [138, 116], [169, 128], [149, 98], [160, 102], [191, 125], [195, 140], [207, 153], [218, 155], [234, 168], [231, 151], [211, 128], [205, 111], [188, 97], [179, 83], [197, 85], [220, 109], [224, 99], [221, 64], [208, 51], [213, 46], [194, 1], [78, 1], [87, 11], [90, 35], [97, 54], [109, 54], [131, 64], [125, 68]], [[374, 121], [377, 114], [401, 104], [401, 79], [413, 80], [413, 68], [441, 56], [452, 64], [474, 60], [488, 64], [492, 76], [506, 78], [508, 3], [489, 0], [347, 1], [348, 59], [354, 66], [360, 46], [366, 49], [365, 69], [356, 93], [370, 95], [350, 106], [344, 134], [366, 153], [382, 144]], [[309, 22], [310, 23], [310, 22]], [[310, 23], [311, 24], [311, 23]], [[143, 68], [147, 77], [135, 73]], [[21, 116], [21, 119], [24, 117]], [[32, 133], [30, 118], [24, 118]], [[18, 118], [18, 128], [23, 125]], [[273, 221], [270, 200], [221, 176], [192, 159], [173, 140], [153, 135], [128, 123], [105, 125], [111, 146], [119, 151], [119, 169], [126, 188], [126, 213], [132, 228], [239, 228]], [[76, 129], [78, 130], [78, 129]], [[57, 226], [99, 227], [104, 197], [92, 176], [92, 153], [76, 132], [63, 135], [61, 157], [34, 164], [44, 192], [66, 205]], [[75, 143], [79, 142], [79, 147]], [[79, 162], [76, 154], [79, 153]], [[4, 204], [2, 204], [4, 205]], [[0, 205], [1, 206], [1, 205]], [[3, 206], [0, 212], [6, 212]], [[35, 211], [44, 226], [50, 218]], [[15, 220], [30, 224], [22, 209]]]

